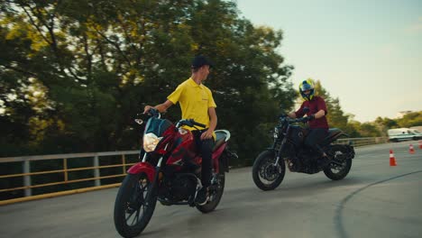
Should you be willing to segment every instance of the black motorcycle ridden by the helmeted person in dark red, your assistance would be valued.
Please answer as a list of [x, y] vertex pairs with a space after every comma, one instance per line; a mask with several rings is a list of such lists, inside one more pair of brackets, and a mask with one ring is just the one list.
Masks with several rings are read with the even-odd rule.
[[262, 151], [253, 162], [252, 178], [258, 188], [272, 190], [279, 187], [286, 173], [285, 162], [292, 172], [315, 174], [324, 171], [327, 178], [340, 180], [347, 176], [354, 158], [351, 145], [332, 144], [341, 136], [340, 129], [329, 129], [328, 136], [320, 146], [329, 158], [320, 158], [316, 151], [304, 146], [308, 129], [299, 126], [307, 123], [308, 118], [289, 118], [281, 115], [279, 124], [274, 128], [274, 142], [271, 148]]

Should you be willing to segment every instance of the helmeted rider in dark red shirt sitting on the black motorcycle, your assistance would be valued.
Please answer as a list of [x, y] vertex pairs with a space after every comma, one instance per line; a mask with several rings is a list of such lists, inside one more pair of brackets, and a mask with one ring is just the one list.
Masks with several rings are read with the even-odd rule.
[[[309, 133], [305, 139], [305, 145], [313, 151], [317, 151], [321, 157], [327, 160], [326, 152], [319, 146], [328, 135], [328, 123], [326, 122], [326, 101], [321, 96], [314, 96], [315, 87], [312, 79], [304, 80], [299, 85], [300, 95], [305, 101], [300, 105], [298, 111], [290, 113], [291, 118], [300, 118], [307, 114]], [[309, 110], [304, 111], [307, 107]]]

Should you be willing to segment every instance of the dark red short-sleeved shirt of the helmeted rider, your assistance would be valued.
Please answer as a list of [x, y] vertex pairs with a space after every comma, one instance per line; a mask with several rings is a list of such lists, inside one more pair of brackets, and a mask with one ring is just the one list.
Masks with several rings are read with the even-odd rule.
[[[305, 115], [305, 113], [303, 112], [303, 108], [305, 106], [309, 108], [309, 112], [307, 112], [307, 115], [316, 114], [319, 110], [324, 110], [326, 114], [328, 114], [328, 111], [326, 110], [326, 101], [321, 96], [314, 96], [312, 100], [303, 102], [303, 104], [300, 105], [298, 111], [295, 112], [297, 118], [300, 118]], [[328, 129], [326, 116], [323, 116], [318, 119], [315, 118], [314, 120], [307, 122], [307, 124], [309, 124], [309, 128]]]

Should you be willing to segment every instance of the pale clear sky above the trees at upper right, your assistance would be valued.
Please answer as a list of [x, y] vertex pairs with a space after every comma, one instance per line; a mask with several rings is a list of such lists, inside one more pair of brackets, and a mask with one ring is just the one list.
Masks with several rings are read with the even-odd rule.
[[320, 80], [361, 123], [422, 111], [421, 0], [237, 0], [240, 16], [282, 30], [294, 87]]

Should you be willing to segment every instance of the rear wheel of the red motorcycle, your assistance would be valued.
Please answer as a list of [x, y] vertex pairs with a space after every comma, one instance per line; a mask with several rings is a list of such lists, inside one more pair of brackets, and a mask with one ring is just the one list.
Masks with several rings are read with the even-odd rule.
[[197, 205], [197, 210], [202, 213], [214, 211], [220, 203], [221, 197], [223, 197], [223, 192], [225, 191], [225, 169], [222, 163], [220, 163], [219, 173], [214, 176], [216, 176], [216, 189], [210, 191], [209, 201], [203, 206]]

